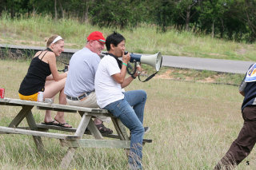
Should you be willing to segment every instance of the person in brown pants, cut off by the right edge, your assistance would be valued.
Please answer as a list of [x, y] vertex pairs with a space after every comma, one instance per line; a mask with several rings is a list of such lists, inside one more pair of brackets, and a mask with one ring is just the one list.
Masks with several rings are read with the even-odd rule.
[[239, 93], [245, 97], [242, 102], [244, 123], [238, 138], [231, 144], [222, 160], [218, 161], [214, 170], [233, 169], [250, 154], [256, 143], [256, 63], [247, 71]]

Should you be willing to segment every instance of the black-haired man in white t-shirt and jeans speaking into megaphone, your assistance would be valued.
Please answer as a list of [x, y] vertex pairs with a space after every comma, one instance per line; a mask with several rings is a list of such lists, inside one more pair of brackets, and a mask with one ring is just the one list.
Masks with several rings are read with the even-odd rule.
[[[107, 55], [102, 58], [95, 75], [95, 92], [97, 103], [102, 109], [107, 109], [130, 129], [130, 154], [128, 163], [131, 169], [142, 169], [142, 140], [146, 129], [143, 128], [146, 92], [132, 90], [123, 92], [138, 76], [134, 73], [126, 77], [127, 63], [130, 53], [125, 54], [126, 39], [118, 33], [106, 38]], [[122, 57], [122, 61], [118, 58]], [[140, 69], [138, 69], [140, 70]]]

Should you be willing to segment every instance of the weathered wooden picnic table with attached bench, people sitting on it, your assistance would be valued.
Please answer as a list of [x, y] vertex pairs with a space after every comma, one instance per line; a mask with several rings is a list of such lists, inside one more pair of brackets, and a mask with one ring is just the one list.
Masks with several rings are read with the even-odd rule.
[[[109, 113], [106, 109], [91, 109], [85, 107], [49, 104], [37, 101], [23, 101], [19, 99], [0, 98], [0, 105], [20, 106], [22, 109], [17, 113], [8, 127], [0, 126], [0, 134], [25, 134], [33, 136], [34, 143], [39, 152], [43, 150], [42, 138], [50, 137], [60, 140], [62, 146], [68, 147], [66, 155], [62, 158], [61, 168], [68, 168], [73, 159], [75, 149], [82, 148], [130, 148], [130, 136], [126, 133], [126, 127], [122, 122]], [[78, 128], [63, 128], [61, 126], [36, 124], [32, 109], [34, 106], [42, 110], [54, 110], [65, 113], [79, 113], [82, 117]], [[118, 134], [102, 134], [99, 132], [92, 118], [103, 116], [111, 117], [114, 128]], [[26, 118], [29, 127], [18, 127]], [[49, 132], [49, 129], [70, 132], [70, 134], [60, 132]], [[84, 134], [94, 136], [94, 139], [82, 138]], [[105, 139], [112, 138], [110, 139]], [[152, 140], [143, 140], [143, 144], [151, 143]]]

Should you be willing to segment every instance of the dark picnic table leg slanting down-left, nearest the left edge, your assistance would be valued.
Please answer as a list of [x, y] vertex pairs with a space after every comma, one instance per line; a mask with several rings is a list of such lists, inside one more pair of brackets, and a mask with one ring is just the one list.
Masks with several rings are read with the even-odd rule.
[[26, 115], [33, 109], [34, 105], [24, 105], [14, 120], [10, 122], [9, 128], [17, 128]]

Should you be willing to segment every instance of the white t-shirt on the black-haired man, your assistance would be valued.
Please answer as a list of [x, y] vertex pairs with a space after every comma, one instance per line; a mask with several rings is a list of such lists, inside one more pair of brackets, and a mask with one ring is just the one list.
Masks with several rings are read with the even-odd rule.
[[115, 58], [110, 55], [103, 57], [98, 65], [94, 81], [97, 103], [100, 108], [124, 98], [121, 84], [114, 81], [112, 77], [116, 73], [121, 73], [121, 70]]

